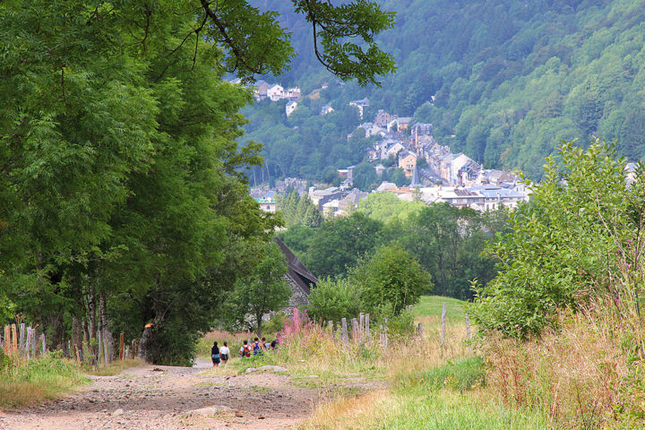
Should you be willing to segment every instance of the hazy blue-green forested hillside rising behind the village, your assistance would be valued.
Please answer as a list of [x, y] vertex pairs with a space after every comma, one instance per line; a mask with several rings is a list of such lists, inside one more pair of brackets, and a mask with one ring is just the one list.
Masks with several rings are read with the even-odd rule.
[[[315, 61], [311, 30], [286, 10], [287, 2], [256, 2], [283, 13], [299, 54], [280, 80], [265, 79], [300, 85], [304, 94], [330, 84], [288, 120], [280, 103], [247, 112], [248, 131], [265, 144], [271, 176], [323, 179], [331, 168], [363, 159], [366, 142], [347, 140], [360, 122], [347, 102], [364, 97], [370, 99], [367, 121], [383, 108], [430, 122], [439, 142], [486, 168], [539, 175], [561, 139], [586, 143], [590, 135], [617, 139], [630, 159], [643, 155], [645, 2], [380, 3], [397, 13], [395, 28], [383, 32], [379, 44], [396, 57], [398, 71], [385, 76], [381, 88], [341, 88]], [[320, 116], [330, 102], [337, 115]]]

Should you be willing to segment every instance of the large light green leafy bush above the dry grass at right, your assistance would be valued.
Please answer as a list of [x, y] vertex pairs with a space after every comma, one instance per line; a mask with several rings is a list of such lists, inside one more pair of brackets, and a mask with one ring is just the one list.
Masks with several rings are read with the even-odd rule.
[[624, 160], [603, 142], [588, 150], [564, 143], [557, 158], [546, 159], [545, 179], [528, 182], [530, 204], [511, 214], [512, 234], [488, 250], [499, 274], [476, 284], [469, 312], [480, 327], [514, 337], [539, 333], [557, 309], [576, 309], [604, 288], [616, 276], [616, 244], [638, 235], [639, 184], [625, 183]]

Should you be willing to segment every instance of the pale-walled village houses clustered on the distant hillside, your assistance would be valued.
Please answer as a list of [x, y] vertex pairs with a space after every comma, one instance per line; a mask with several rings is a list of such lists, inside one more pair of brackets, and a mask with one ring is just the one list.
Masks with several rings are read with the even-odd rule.
[[[297, 98], [293, 95], [299, 95], [299, 89], [285, 91], [278, 84], [271, 86], [263, 81], [255, 82], [254, 89], [256, 99], [289, 99], [287, 115], [297, 109]], [[278, 94], [281, 94], [280, 98]], [[363, 120], [369, 100], [352, 100], [348, 105], [356, 107]], [[320, 115], [332, 110], [326, 105]], [[401, 168], [410, 181], [409, 185], [401, 187], [383, 181], [372, 193], [394, 193], [401, 200], [417, 199], [426, 204], [448, 202], [476, 211], [500, 207], [512, 210], [519, 202], [529, 200], [529, 190], [512, 172], [486, 169], [463, 153], [452, 153], [449, 146], [434, 139], [432, 124], [415, 122], [411, 117], [397, 116], [380, 109], [369, 122], [358, 125], [358, 129], [363, 130], [367, 138], [372, 138], [373, 144], [365, 156], [374, 166], [376, 175], [383, 176], [389, 168]], [[348, 135], [348, 139], [351, 137], [352, 134]], [[273, 189], [267, 186], [256, 188], [252, 195], [264, 211], [272, 212], [276, 211], [276, 193], [284, 193], [288, 186], [292, 186], [301, 194], [307, 193], [325, 217], [347, 215], [369, 195], [354, 187], [354, 168], [349, 166], [337, 170], [338, 186], [319, 184], [306, 187], [305, 180], [287, 178], [278, 181]]]

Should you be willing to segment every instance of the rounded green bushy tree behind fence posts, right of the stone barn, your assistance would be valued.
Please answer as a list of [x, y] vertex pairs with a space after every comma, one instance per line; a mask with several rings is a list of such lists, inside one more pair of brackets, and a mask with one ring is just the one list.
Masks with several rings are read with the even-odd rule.
[[351, 271], [349, 281], [359, 286], [367, 309], [382, 317], [398, 316], [433, 288], [430, 274], [398, 245], [379, 248]]

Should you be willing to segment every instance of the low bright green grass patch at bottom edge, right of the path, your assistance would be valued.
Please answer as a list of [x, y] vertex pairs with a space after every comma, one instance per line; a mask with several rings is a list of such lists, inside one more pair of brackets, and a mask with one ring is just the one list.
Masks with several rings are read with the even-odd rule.
[[385, 417], [374, 430], [546, 430], [545, 417], [528, 411], [505, 409], [450, 391], [428, 394], [423, 389], [402, 391], [396, 413]]

